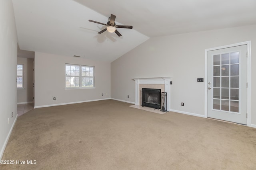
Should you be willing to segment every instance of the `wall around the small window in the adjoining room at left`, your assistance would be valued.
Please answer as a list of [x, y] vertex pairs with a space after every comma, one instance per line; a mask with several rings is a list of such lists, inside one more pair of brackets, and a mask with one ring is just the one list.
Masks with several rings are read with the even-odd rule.
[[18, 57], [17, 64], [23, 64], [23, 87], [17, 89], [17, 103], [33, 102], [33, 67], [34, 59]]

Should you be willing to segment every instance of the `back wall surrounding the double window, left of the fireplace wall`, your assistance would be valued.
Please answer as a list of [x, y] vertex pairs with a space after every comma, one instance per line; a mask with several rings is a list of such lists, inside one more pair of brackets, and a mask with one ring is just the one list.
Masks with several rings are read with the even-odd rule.
[[[110, 98], [110, 63], [35, 52], [35, 107]], [[95, 87], [64, 89], [65, 64], [95, 66]], [[102, 96], [102, 93], [104, 96]], [[56, 100], [53, 100], [53, 98]]]

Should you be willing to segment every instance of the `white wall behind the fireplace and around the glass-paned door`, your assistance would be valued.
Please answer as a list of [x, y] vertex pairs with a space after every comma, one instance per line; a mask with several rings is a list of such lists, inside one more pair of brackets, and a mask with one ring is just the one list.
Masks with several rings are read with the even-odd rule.
[[[205, 49], [252, 41], [252, 124], [256, 126], [256, 25], [155, 37], [111, 63], [111, 96], [134, 102], [133, 78], [173, 76], [171, 108], [204, 115]], [[127, 95], [130, 98], [127, 98]], [[181, 106], [184, 102], [184, 106]]]

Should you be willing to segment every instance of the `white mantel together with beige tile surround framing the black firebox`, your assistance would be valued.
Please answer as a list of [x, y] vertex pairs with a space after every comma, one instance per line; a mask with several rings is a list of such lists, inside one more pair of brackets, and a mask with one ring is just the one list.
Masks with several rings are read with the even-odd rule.
[[161, 92], [167, 92], [167, 109], [170, 111], [170, 81], [172, 81], [172, 77], [134, 78], [133, 80], [135, 81], [135, 105], [141, 105], [140, 90], [142, 88], [157, 88], [161, 89]]

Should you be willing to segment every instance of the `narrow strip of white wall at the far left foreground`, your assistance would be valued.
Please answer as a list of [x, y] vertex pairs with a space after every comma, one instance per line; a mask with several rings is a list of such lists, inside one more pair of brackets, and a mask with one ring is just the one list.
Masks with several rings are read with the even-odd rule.
[[2, 74], [0, 83], [0, 160], [17, 118], [17, 43], [12, 1], [1, 0], [0, 72]]

